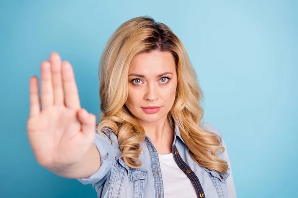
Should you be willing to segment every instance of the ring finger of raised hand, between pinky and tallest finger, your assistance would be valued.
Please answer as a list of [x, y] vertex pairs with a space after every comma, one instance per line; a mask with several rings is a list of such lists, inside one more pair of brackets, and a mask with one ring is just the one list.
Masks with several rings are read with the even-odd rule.
[[41, 63], [41, 102], [42, 108], [53, 105], [52, 75], [49, 61]]

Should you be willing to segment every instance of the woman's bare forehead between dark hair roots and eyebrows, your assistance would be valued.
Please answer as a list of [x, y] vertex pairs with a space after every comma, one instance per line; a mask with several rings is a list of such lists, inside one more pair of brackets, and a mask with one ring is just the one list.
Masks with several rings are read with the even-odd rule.
[[169, 51], [152, 51], [136, 55], [129, 66], [129, 73], [159, 74], [175, 72], [175, 59]]

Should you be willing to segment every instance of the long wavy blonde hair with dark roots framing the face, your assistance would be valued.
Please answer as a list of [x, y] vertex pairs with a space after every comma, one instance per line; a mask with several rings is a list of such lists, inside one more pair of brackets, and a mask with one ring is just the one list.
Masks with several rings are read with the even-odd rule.
[[112, 130], [125, 163], [132, 168], [142, 165], [139, 155], [144, 147], [140, 148], [140, 143], [145, 141], [145, 131], [125, 105], [128, 70], [135, 55], [153, 50], [171, 52], [176, 63], [178, 83], [175, 101], [168, 113], [170, 123], [178, 125], [181, 137], [198, 165], [225, 173], [227, 162], [217, 154], [218, 150], [224, 152], [221, 137], [200, 127], [204, 116], [200, 105], [203, 93], [188, 54], [169, 27], [149, 16], [124, 22], [111, 36], [102, 53], [99, 68], [102, 113], [99, 114], [98, 133], [104, 132], [103, 128]]

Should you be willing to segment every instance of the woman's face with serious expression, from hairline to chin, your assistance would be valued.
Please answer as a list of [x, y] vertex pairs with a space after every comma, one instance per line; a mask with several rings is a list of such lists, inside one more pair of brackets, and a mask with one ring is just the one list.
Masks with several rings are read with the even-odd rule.
[[128, 74], [125, 104], [130, 112], [141, 123], [166, 118], [177, 88], [176, 65], [171, 52], [155, 50], [136, 55]]

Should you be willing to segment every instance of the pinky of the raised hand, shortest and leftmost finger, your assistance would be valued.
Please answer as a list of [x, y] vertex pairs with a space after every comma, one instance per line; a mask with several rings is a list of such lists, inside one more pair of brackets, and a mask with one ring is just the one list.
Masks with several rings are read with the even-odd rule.
[[30, 100], [30, 112], [29, 117], [37, 116], [40, 112], [40, 101], [38, 91], [38, 78], [33, 76], [29, 81], [29, 100]]

